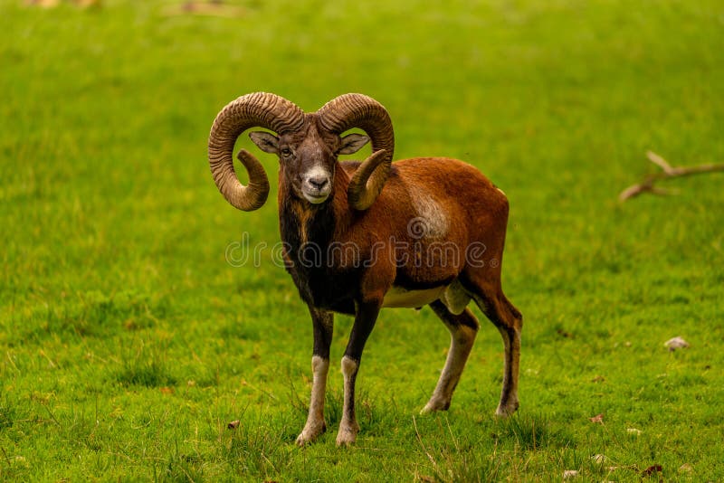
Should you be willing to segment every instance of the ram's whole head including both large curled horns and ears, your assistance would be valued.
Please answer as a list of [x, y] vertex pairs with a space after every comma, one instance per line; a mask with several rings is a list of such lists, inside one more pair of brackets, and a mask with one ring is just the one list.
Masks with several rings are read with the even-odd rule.
[[[305, 114], [280, 96], [257, 92], [233, 100], [216, 116], [209, 135], [209, 164], [214, 182], [226, 200], [243, 211], [260, 208], [269, 194], [269, 179], [262, 164], [242, 149], [239, 160], [249, 173], [249, 184], [239, 182], [233, 169], [233, 145], [249, 128], [252, 141], [267, 153], [279, 156], [293, 194], [311, 204], [328, 200], [334, 184], [337, 156], [357, 152], [372, 141], [369, 156], [352, 176], [349, 205], [367, 210], [385, 185], [395, 149], [392, 122], [375, 99], [345, 94], [330, 100], [317, 112]], [[367, 136], [341, 134], [351, 128]]]

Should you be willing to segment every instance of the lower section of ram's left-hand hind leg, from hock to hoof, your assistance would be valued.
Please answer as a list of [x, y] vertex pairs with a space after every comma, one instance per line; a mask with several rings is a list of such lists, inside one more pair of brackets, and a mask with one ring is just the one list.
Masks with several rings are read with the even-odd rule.
[[450, 407], [452, 392], [460, 381], [462, 369], [475, 341], [476, 331], [471, 327], [458, 326], [451, 331], [450, 350], [447, 354], [443, 373], [433, 392], [430, 401], [425, 404], [422, 412], [446, 410]]

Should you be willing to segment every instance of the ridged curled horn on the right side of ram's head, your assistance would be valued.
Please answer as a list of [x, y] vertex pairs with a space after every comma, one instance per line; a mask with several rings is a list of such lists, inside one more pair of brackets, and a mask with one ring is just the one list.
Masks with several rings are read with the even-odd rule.
[[317, 114], [322, 126], [331, 132], [342, 134], [361, 128], [372, 140], [373, 154], [357, 168], [347, 192], [350, 206], [367, 210], [385, 186], [395, 152], [395, 132], [387, 109], [365, 95], [345, 94], [330, 100]]

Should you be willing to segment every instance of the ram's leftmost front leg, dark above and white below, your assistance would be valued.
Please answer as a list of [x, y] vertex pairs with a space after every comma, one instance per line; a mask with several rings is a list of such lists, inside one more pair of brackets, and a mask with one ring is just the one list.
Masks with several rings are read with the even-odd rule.
[[310, 314], [314, 327], [314, 349], [311, 356], [311, 398], [310, 413], [307, 423], [297, 437], [297, 444], [303, 446], [315, 440], [327, 426], [324, 423], [324, 394], [327, 389], [327, 373], [329, 372], [329, 346], [332, 343], [334, 314], [327, 310], [314, 308]]

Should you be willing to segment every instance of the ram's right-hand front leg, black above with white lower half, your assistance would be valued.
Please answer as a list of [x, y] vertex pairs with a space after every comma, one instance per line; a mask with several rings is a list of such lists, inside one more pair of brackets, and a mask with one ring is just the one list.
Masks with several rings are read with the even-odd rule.
[[382, 308], [382, 297], [372, 298], [357, 305], [357, 316], [349, 335], [349, 342], [342, 357], [342, 374], [345, 380], [345, 402], [342, 409], [342, 421], [339, 422], [337, 445], [349, 445], [357, 440], [359, 424], [355, 413], [355, 381], [359, 370], [359, 361], [365, 348], [367, 337], [375, 327], [377, 315]]

